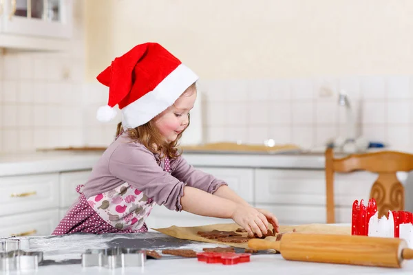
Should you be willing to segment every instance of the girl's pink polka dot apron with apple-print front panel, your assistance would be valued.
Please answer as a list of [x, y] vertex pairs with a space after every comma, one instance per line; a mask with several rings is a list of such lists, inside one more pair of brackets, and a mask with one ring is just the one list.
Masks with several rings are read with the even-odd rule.
[[[169, 159], [165, 158], [164, 170], [171, 173]], [[76, 232], [104, 233], [142, 233], [148, 228], [145, 219], [151, 214], [156, 203], [133, 188], [127, 182], [87, 199], [81, 188], [76, 187], [80, 194], [76, 203], [66, 213], [52, 235], [70, 234]]]

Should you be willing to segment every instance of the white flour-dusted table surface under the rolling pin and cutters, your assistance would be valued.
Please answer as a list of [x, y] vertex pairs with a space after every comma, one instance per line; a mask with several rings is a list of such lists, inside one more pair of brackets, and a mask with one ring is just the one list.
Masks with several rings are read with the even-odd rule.
[[[111, 235], [111, 236], [109, 236]], [[116, 236], [117, 235], [117, 236]], [[129, 235], [129, 236], [128, 236]], [[196, 259], [176, 259], [164, 256], [160, 260], [147, 260], [145, 267], [128, 267], [125, 270], [118, 268], [114, 271], [98, 267], [81, 267], [81, 253], [87, 248], [109, 248], [120, 242], [134, 241], [131, 245], [137, 248], [141, 239], [144, 249], [153, 248], [160, 252], [162, 249], [182, 248], [201, 252], [202, 248], [212, 248], [217, 245], [213, 243], [186, 242], [185, 245], [169, 246], [167, 236], [158, 232], [145, 234], [107, 234], [104, 235], [67, 235], [67, 236], [39, 236], [23, 237], [30, 239], [30, 250], [43, 251], [43, 258], [49, 263], [39, 266], [36, 274], [412, 274], [413, 261], [405, 261], [401, 269], [390, 269], [383, 267], [362, 267], [353, 265], [333, 265], [325, 263], [305, 263], [297, 261], [286, 261], [280, 254], [253, 254], [251, 262], [238, 265], [206, 264]], [[169, 237], [171, 238], [171, 237]], [[158, 242], [160, 240], [161, 242]], [[157, 245], [157, 243], [159, 243]], [[50, 263], [54, 262], [54, 263]]]

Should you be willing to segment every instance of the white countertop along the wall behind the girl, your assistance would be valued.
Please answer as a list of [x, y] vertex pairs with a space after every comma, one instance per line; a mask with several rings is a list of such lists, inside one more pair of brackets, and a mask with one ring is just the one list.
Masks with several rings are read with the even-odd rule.
[[[0, 176], [89, 170], [102, 152], [50, 151], [0, 154]], [[324, 168], [324, 155], [184, 153], [193, 166], [253, 168]]]

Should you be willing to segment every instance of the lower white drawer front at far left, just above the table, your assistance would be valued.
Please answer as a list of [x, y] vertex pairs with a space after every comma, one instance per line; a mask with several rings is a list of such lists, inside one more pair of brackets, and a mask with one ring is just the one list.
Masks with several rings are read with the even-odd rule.
[[30, 212], [0, 217], [0, 237], [10, 236], [48, 236], [59, 224], [59, 210]]

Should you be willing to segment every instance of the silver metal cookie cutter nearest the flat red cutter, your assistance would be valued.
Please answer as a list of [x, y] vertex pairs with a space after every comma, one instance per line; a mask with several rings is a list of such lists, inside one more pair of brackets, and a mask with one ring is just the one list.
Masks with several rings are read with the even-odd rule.
[[109, 248], [104, 250], [86, 250], [82, 254], [83, 267], [142, 267], [145, 265], [145, 250], [134, 248]]

